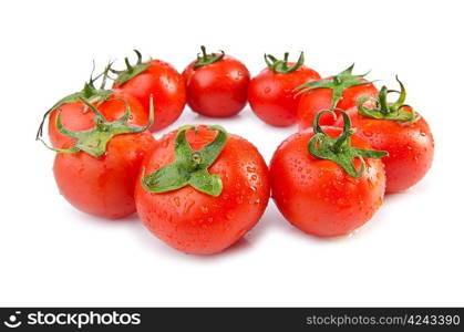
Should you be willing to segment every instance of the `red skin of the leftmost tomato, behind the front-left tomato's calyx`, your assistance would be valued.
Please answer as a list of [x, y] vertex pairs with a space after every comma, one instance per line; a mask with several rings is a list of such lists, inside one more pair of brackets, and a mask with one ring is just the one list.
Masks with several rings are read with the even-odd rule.
[[[114, 94], [97, 108], [106, 121], [116, 121], [126, 112], [126, 105], [123, 100], [131, 106], [131, 117], [127, 123], [136, 126], [146, 125], [148, 116], [142, 104], [135, 97], [121, 90], [116, 89]], [[95, 127], [95, 122], [93, 121], [95, 116], [94, 113], [89, 108], [85, 111], [83, 110], [84, 104], [82, 102], [74, 102], [62, 105], [59, 110], [54, 110], [50, 113], [49, 136], [53, 147], [62, 148], [74, 142], [74, 138], [65, 136], [56, 129], [56, 115], [59, 111], [61, 114], [61, 123], [66, 129], [82, 132]]]

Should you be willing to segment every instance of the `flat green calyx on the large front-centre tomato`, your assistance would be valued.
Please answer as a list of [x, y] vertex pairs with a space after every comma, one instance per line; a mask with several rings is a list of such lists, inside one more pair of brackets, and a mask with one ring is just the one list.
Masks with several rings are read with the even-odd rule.
[[192, 149], [186, 138], [186, 131], [195, 126], [186, 125], [178, 128], [174, 155], [175, 162], [161, 167], [155, 173], [142, 175], [142, 185], [151, 193], [167, 193], [190, 185], [198, 191], [217, 197], [223, 191], [223, 181], [216, 174], [209, 174], [208, 167], [220, 155], [227, 142], [227, 132], [219, 125], [207, 129], [217, 131], [215, 139], [200, 151]]

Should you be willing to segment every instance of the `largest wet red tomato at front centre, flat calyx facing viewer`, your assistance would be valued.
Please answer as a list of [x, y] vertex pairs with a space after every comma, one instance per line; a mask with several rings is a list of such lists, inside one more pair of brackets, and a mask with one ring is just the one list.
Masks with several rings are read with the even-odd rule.
[[187, 253], [230, 247], [268, 204], [262, 156], [220, 126], [184, 126], [164, 135], [142, 169], [135, 189], [140, 217], [153, 235]]

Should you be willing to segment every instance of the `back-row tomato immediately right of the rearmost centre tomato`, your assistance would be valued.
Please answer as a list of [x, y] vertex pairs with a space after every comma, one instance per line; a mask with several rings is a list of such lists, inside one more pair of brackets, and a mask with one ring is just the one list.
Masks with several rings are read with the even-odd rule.
[[267, 69], [255, 76], [248, 86], [248, 102], [252, 112], [272, 126], [290, 126], [297, 122], [299, 96], [295, 89], [306, 82], [319, 80], [320, 75], [303, 65], [301, 52], [297, 63], [288, 63], [288, 53], [283, 60], [265, 55]]

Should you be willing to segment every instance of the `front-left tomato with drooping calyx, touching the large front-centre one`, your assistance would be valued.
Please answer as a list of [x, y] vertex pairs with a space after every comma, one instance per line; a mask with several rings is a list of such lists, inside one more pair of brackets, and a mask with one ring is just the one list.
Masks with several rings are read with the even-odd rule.
[[[95, 125], [90, 131], [62, 127], [61, 114], [54, 122], [61, 135], [72, 138], [63, 148], [55, 149], [56, 185], [61, 195], [79, 210], [102, 218], [123, 218], [135, 211], [135, 181], [143, 157], [155, 145], [147, 131], [152, 121], [145, 127], [131, 126], [128, 110], [123, 117], [109, 122], [95, 106], [87, 102], [86, 106], [94, 115]], [[100, 111], [104, 108], [102, 105]], [[120, 112], [120, 107], [106, 106], [106, 112], [110, 110], [114, 111], [111, 117]], [[71, 117], [70, 121], [74, 124]]]

